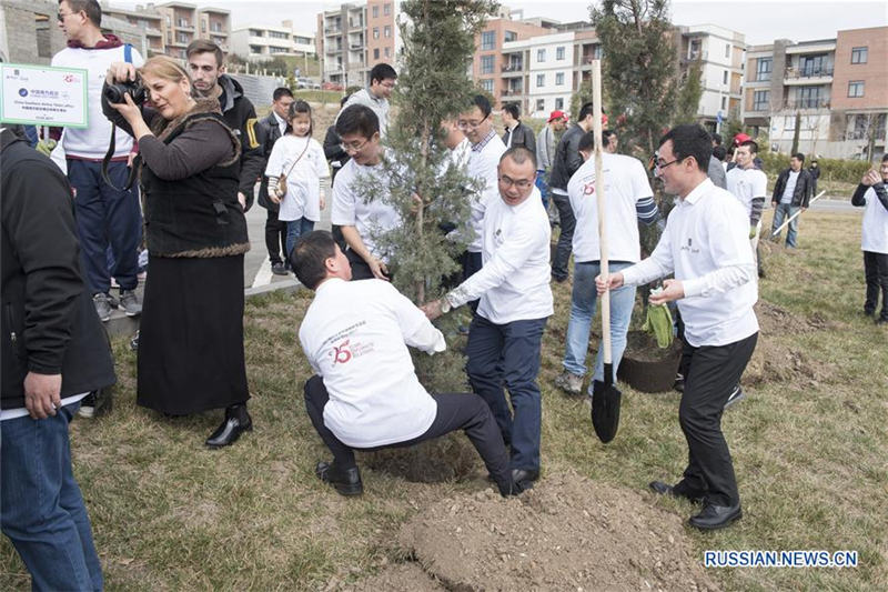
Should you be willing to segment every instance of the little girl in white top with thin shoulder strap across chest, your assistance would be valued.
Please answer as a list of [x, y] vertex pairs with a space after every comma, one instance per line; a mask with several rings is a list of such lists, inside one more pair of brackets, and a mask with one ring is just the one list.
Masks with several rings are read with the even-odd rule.
[[[286, 258], [296, 240], [314, 230], [325, 207], [321, 178], [330, 177], [324, 150], [312, 138], [312, 108], [293, 101], [287, 113], [291, 132], [278, 140], [265, 167], [269, 198], [280, 203], [278, 219], [286, 222]], [[278, 191], [278, 179], [286, 175], [286, 193]]]

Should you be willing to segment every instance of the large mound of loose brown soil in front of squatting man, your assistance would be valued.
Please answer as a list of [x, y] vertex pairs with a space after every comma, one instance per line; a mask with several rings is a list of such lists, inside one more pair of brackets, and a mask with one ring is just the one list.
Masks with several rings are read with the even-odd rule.
[[717, 590], [678, 515], [572, 473], [441, 500], [400, 542], [450, 590]]

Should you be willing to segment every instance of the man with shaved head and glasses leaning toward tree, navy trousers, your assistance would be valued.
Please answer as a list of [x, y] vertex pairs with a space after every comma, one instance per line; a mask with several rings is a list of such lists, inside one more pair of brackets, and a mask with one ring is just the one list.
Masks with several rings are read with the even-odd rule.
[[481, 299], [468, 331], [466, 372], [472, 390], [487, 402], [503, 440], [511, 444], [512, 476], [522, 489], [539, 476], [537, 374], [543, 330], [553, 312], [552, 230], [535, 178], [533, 152], [512, 148], [502, 155], [500, 197], [487, 204], [482, 227], [483, 267], [443, 299], [422, 307], [436, 319]]

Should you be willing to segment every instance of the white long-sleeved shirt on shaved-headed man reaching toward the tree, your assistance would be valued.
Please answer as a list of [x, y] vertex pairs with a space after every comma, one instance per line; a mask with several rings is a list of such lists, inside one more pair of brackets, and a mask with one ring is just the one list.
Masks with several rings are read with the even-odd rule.
[[539, 190], [518, 205], [497, 197], [487, 204], [483, 267], [447, 294], [453, 307], [481, 298], [478, 314], [496, 324], [552, 315], [552, 229]]

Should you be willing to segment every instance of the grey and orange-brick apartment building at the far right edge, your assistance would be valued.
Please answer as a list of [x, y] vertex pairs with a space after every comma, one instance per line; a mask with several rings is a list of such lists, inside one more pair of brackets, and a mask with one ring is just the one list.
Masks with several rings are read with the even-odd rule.
[[[888, 27], [839, 31], [835, 39], [777, 39], [749, 48], [743, 119], [766, 130], [771, 148], [861, 157], [870, 136], [885, 151]], [[796, 130], [798, 127], [798, 130]]]

